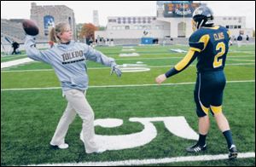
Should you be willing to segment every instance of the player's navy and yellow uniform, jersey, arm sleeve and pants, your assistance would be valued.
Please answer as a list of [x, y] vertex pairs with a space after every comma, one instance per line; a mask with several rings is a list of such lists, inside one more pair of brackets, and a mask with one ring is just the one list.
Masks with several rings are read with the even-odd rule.
[[224, 66], [229, 51], [230, 32], [223, 26], [201, 27], [189, 37], [189, 52], [183, 60], [166, 72], [170, 78], [182, 72], [197, 58], [195, 104], [198, 117], [209, 109], [213, 114], [222, 112], [223, 92], [226, 83]]

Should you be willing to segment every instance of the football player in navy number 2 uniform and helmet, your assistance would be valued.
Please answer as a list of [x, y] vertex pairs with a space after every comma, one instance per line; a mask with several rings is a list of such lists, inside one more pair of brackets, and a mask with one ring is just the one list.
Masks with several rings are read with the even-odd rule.
[[229, 51], [230, 32], [223, 26], [214, 26], [212, 10], [207, 6], [195, 9], [193, 13], [194, 33], [189, 37], [189, 52], [170, 71], [155, 78], [162, 83], [178, 72], [182, 72], [197, 58], [197, 79], [195, 83], [196, 113], [199, 118], [199, 140], [186, 148], [189, 153], [207, 149], [207, 133], [210, 127], [209, 112], [212, 113], [222, 131], [229, 149], [229, 158], [237, 157], [237, 150], [230, 125], [222, 112], [222, 101], [226, 78], [224, 66]]

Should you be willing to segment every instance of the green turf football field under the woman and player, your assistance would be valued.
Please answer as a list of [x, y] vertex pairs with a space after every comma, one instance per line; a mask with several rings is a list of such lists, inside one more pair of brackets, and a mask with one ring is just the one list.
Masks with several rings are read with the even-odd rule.
[[[113, 57], [119, 65], [142, 61], [150, 68], [148, 72], [124, 72], [121, 78], [117, 78], [109, 75], [109, 67], [88, 62], [90, 89], [87, 99], [95, 118], [119, 118], [124, 121], [117, 128], [96, 126], [97, 135], [127, 135], [143, 130], [143, 124], [131, 122], [129, 118], [176, 116], [183, 116], [197, 132], [193, 98], [196, 62], [165, 84], [159, 86], [154, 83], [155, 77], [183, 58], [184, 54], [172, 53], [170, 49], [188, 47], [136, 46], [133, 49], [140, 54], [137, 57], [119, 57], [120, 53], [124, 53], [121, 46], [96, 49]], [[1, 62], [25, 57], [5, 56]], [[255, 154], [255, 45], [241, 48], [231, 46], [225, 73], [228, 83], [224, 91], [224, 113], [230, 121], [234, 141], [239, 153]], [[84, 145], [79, 140], [82, 121], [78, 116], [67, 132], [69, 148], [54, 150], [49, 147], [49, 141], [66, 105], [66, 100], [61, 97], [60, 83], [50, 66], [34, 62], [2, 69], [1, 165], [97, 163], [218, 154], [228, 156], [224, 136], [212, 117], [207, 136], [208, 149], [204, 153], [186, 153], [185, 147], [195, 141], [177, 137], [166, 130], [163, 122], [154, 122], [157, 136], [148, 144], [88, 155], [84, 153]], [[255, 155], [235, 161], [222, 159], [149, 165], [253, 166]]]

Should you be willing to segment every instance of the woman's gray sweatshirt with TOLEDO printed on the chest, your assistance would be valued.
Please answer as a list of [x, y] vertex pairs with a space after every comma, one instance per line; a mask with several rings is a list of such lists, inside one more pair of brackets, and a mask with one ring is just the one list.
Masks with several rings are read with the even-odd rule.
[[71, 41], [69, 44], [57, 44], [51, 49], [40, 51], [35, 47], [35, 37], [26, 35], [25, 47], [29, 58], [43, 61], [54, 68], [63, 91], [88, 88], [85, 60], [93, 60], [106, 66], [115, 64], [113, 58], [103, 55], [85, 43]]

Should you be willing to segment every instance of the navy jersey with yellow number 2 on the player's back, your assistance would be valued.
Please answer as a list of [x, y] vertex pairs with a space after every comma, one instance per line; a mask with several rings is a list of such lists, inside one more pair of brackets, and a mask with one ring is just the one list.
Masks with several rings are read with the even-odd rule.
[[230, 32], [223, 26], [202, 27], [189, 37], [190, 49], [197, 55], [198, 72], [223, 70], [229, 51]]

